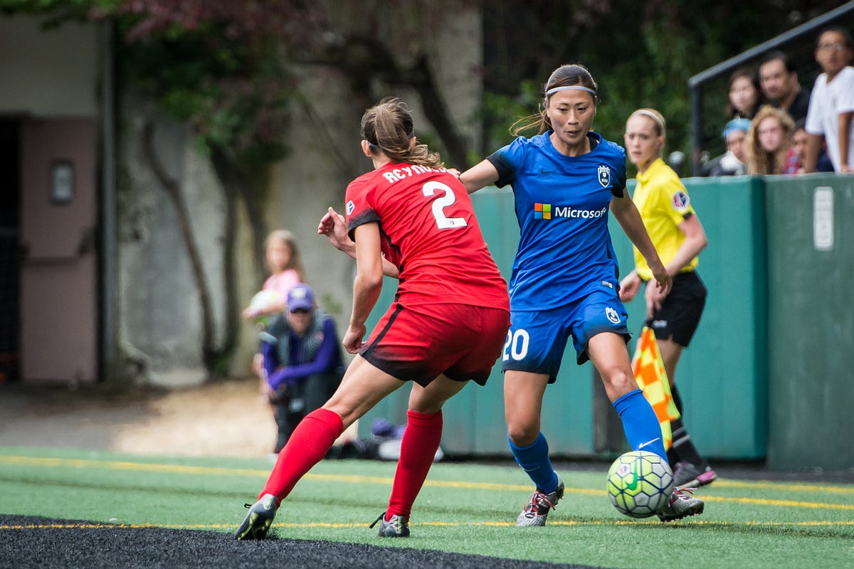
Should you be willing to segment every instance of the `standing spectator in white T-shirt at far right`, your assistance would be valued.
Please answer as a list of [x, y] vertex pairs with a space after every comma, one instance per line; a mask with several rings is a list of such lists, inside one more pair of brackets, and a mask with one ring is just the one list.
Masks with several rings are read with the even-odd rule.
[[822, 136], [834, 171], [854, 172], [854, 67], [851, 67], [851, 33], [831, 26], [818, 36], [816, 61], [824, 73], [816, 78], [810, 98], [806, 131], [810, 138], [804, 171], [816, 171]]

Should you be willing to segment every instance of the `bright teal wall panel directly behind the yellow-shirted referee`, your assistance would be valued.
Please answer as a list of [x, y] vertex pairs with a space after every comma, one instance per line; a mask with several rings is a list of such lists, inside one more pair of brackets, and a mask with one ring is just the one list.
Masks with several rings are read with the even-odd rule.
[[[698, 273], [709, 290], [703, 318], [676, 368], [684, 422], [700, 454], [765, 456], [767, 377], [763, 183], [759, 177], [683, 180], [709, 244]], [[629, 184], [629, 190], [634, 183]], [[634, 261], [631, 243], [611, 218], [620, 266]], [[626, 305], [636, 337], [642, 298]], [[635, 342], [630, 347], [634, 351]]]

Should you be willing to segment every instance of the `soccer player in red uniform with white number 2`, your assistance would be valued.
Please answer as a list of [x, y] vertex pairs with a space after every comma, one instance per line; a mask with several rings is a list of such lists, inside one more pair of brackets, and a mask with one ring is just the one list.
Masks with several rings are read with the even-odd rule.
[[[361, 135], [374, 170], [348, 185], [346, 229], [331, 208], [318, 227], [356, 259], [343, 345], [357, 356], [332, 398], [306, 415], [279, 452], [237, 539], [266, 537], [284, 497], [343, 430], [411, 380], [395, 482], [377, 519], [381, 537], [407, 537], [412, 503], [442, 438], [442, 404], [469, 380], [485, 384], [506, 340], [506, 282], [462, 183], [418, 144], [412, 115], [397, 99], [368, 109]], [[383, 274], [400, 279], [395, 302], [363, 341]]]

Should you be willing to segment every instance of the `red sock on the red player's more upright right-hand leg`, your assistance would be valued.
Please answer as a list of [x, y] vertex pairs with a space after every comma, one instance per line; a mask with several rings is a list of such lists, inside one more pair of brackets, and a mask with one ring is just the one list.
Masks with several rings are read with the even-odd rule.
[[407, 429], [401, 440], [401, 457], [397, 461], [395, 484], [391, 487], [387, 520], [392, 515], [403, 515], [409, 519], [412, 503], [424, 485], [441, 440], [441, 410], [432, 414], [407, 411]]

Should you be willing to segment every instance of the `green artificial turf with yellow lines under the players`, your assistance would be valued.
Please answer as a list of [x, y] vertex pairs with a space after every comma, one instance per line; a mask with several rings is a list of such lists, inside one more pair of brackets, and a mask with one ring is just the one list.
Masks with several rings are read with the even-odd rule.
[[[231, 539], [271, 468], [263, 459], [0, 447], [0, 512]], [[368, 525], [394, 472], [392, 462], [321, 462], [285, 500], [272, 535], [603, 567], [854, 566], [854, 485], [719, 479], [697, 492], [705, 514], [662, 524], [619, 514], [605, 469], [561, 472], [566, 495], [546, 527], [517, 528], [531, 491], [520, 469], [442, 462], [415, 503], [412, 537], [381, 540]]]

